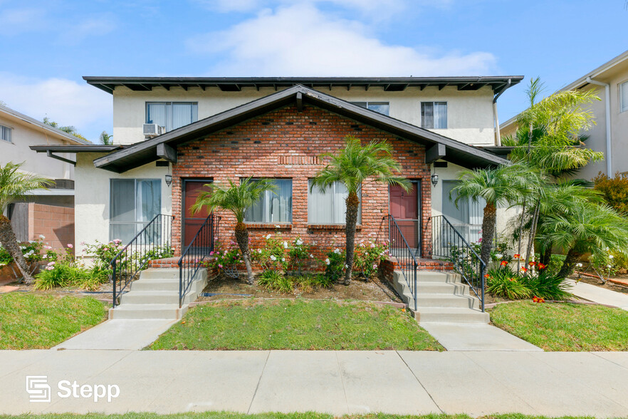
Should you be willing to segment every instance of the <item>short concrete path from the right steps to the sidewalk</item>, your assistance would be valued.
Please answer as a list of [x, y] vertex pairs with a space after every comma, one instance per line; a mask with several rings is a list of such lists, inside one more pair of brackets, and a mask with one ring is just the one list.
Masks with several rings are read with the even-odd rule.
[[543, 351], [490, 324], [420, 322], [447, 351]]

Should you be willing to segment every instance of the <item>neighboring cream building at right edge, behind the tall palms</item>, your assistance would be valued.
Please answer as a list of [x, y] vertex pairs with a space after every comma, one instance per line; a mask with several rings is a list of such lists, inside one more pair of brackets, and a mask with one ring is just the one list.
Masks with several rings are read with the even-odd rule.
[[[609, 177], [617, 172], [628, 173], [628, 51], [560, 89], [563, 90], [595, 90], [602, 99], [590, 106], [597, 125], [583, 134], [589, 136], [585, 145], [603, 152], [605, 160], [589, 163], [577, 177], [591, 180], [600, 172]], [[516, 118], [501, 125], [502, 135], [515, 132]]]

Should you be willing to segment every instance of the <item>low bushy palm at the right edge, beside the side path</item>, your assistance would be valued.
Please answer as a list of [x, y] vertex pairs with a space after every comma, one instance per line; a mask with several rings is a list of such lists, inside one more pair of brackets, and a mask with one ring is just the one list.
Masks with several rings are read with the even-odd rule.
[[558, 271], [563, 278], [584, 254], [601, 255], [609, 248], [625, 252], [628, 247], [628, 219], [608, 205], [577, 202], [565, 214], [550, 214], [544, 229], [545, 239], [567, 251]]

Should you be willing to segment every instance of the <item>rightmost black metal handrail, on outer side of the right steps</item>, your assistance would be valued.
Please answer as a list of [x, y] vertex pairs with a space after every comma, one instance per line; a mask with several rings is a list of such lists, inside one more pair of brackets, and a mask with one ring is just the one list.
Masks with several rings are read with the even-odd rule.
[[451, 225], [444, 215], [431, 217], [432, 257], [449, 259], [456, 271], [480, 299], [484, 311], [484, 289], [486, 264], [471, 244]]

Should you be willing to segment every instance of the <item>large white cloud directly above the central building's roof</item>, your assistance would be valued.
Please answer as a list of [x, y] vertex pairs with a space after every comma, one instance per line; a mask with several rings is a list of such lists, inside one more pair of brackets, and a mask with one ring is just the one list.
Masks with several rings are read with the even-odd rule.
[[[422, 39], [429, 43], [429, 39]], [[369, 26], [333, 19], [309, 4], [262, 11], [226, 31], [187, 41], [222, 58], [212, 76], [461, 76], [488, 73], [491, 53], [446, 53], [388, 45]]]

